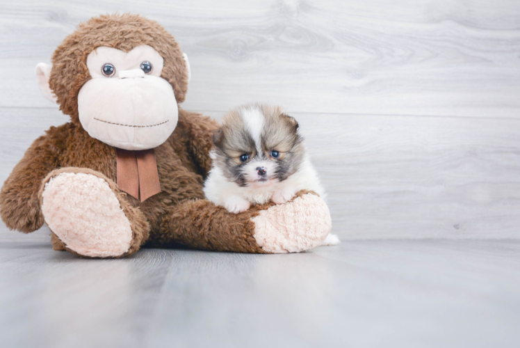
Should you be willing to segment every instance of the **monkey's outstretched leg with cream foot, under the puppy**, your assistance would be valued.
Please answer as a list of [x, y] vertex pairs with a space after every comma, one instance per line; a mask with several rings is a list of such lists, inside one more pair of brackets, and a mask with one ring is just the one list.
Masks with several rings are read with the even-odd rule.
[[209, 200], [192, 200], [165, 216], [152, 244], [243, 253], [298, 253], [319, 246], [332, 222], [325, 201], [300, 191], [282, 205], [257, 205], [240, 214]]

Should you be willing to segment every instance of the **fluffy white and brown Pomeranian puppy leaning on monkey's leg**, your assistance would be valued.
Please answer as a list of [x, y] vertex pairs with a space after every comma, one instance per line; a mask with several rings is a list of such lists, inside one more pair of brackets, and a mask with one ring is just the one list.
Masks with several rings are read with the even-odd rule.
[[[286, 203], [302, 189], [325, 190], [298, 134], [298, 122], [278, 106], [229, 111], [213, 136], [213, 168], [204, 183], [208, 200], [238, 214], [251, 204]], [[323, 245], [339, 244], [328, 235]]]

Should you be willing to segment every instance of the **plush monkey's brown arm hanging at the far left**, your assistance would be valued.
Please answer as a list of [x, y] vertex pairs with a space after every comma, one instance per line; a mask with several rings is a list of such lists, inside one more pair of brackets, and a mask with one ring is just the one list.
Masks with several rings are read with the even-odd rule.
[[11, 230], [28, 233], [42, 227], [38, 191], [45, 176], [59, 166], [65, 128], [65, 125], [51, 127], [47, 134], [36, 139], [3, 184], [0, 216]]

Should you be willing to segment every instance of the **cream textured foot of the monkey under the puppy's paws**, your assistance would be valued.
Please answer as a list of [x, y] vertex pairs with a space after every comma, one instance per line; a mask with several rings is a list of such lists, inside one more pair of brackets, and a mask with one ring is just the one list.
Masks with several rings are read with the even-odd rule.
[[332, 227], [325, 201], [311, 193], [262, 210], [251, 220], [254, 238], [268, 253], [298, 253], [319, 246]]

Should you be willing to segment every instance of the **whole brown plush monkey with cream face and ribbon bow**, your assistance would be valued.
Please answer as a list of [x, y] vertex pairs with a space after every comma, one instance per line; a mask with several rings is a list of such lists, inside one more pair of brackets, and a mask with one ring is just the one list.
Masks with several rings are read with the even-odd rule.
[[291, 253], [320, 245], [325, 202], [300, 191], [282, 205], [230, 214], [204, 199], [217, 123], [184, 111], [190, 68], [162, 26], [138, 15], [80, 24], [36, 67], [70, 122], [36, 139], [0, 192], [8, 228], [45, 222], [55, 250], [120, 258], [141, 246]]

